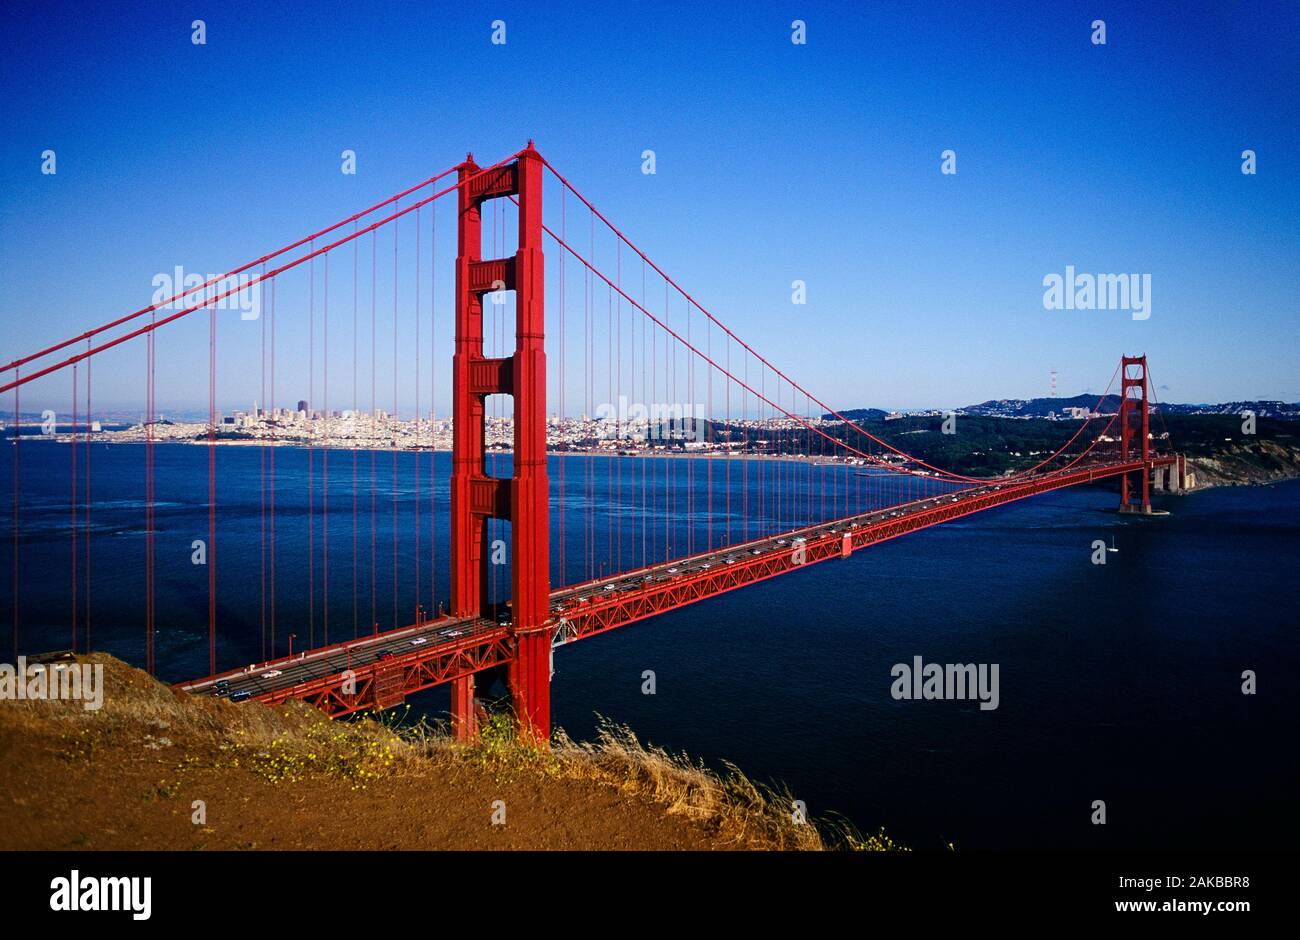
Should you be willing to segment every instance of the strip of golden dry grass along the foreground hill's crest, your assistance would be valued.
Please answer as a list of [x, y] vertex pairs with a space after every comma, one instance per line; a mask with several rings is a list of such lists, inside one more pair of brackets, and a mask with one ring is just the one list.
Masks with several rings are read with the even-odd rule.
[[[472, 764], [498, 783], [545, 775], [597, 783], [629, 798], [650, 801], [668, 815], [702, 826], [714, 839], [745, 849], [897, 850], [883, 832], [862, 836], [848, 820], [801, 819], [785, 788], [754, 783], [732, 764], [718, 774], [686, 754], [642, 744], [632, 729], [602, 719], [594, 741], [573, 741], [556, 731], [550, 749], [515, 733], [508, 715], [494, 715], [471, 745], [452, 740], [446, 724], [410, 722], [410, 711], [332, 722], [290, 702], [276, 709], [231, 705], [222, 698], [174, 692], [140, 670], [92, 654], [81, 662], [104, 666], [104, 707], [81, 702], [5, 702], [6, 722], [21, 729], [55, 719], [68, 759], [94, 755], [122, 740], [182, 753], [216, 754], [204, 763], [251, 770], [272, 784], [307, 777], [341, 777], [364, 789], [385, 777], [451, 771]], [[198, 758], [186, 758], [192, 761]], [[185, 761], [177, 766], [183, 771]], [[160, 781], [160, 788], [169, 787]], [[160, 789], [160, 792], [161, 792]], [[165, 794], [164, 794], [165, 796]]]

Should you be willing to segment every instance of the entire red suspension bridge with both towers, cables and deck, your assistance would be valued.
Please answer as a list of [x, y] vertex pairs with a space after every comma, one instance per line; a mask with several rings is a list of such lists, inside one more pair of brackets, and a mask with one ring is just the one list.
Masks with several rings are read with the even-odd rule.
[[[543, 192], [550, 215], [543, 215]], [[443, 212], [439, 226], [445, 199], [455, 208]], [[439, 230], [442, 255], [455, 251], [451, 278], [439, 278], [450, 267], [450, 257], [439, 261]], [[543, 264], [547, 250], [551, 270]], [[978, 477], [905, 452], [819, 400], [728, 329], [532, 143], [490, 166], [468, 157], [326, 229], [198, 281], [0, 367], [9, 376], [0, 394], [13, 397], [16, 657], [25, 619], [62, 616], [29, 612], [20, 595], [27, 546], [22, 454], [49, 446], [20, 433], [25, 397], [70, 400], [70, 421], [61, 433], [56, 423], [47, 437], [68, 445], [62, 534], [74, 650], [91, 647], [92, 564], [138, 569], [142, 664], [156, 670], [159, 447], [200, 438], [208, 449], [208, 489], [191, 495], [207, 508], [211, 675], [181, 686], [268, 703], [296, 698], [343, 715], [391, 707], [448, 683], [462, 737], [474, 733], [486, 677], [504, 680], [525, 731], [549, 737], [551, 658], [559, 645], [1049, 490], [1118, 477], [1121, 511], [1149, 512], [1153, 486], [1182, 485], [1182, 459], [1167, 433], [1152, 433], [1145, 356], [1122, 358], [1098, 398], [1098, 404], [1114, 400], [1118, 378], [1115, 413], [1093, 410], [1061, 447], [1030, 467]], [[231, 309], [247, 313], [242, 302], [248, 298], [256, 298], [257, 315], [230, 316]], [[436, 404], [438, 308], [448, 299], [450, 426]], [[381, 307], [385, 320], [391, 307], [382, 352]], [[203, 343], [207, 417], [195, 423], [198, 434], [178, 438], [177, 423], [160, 404], [192, 397], [194, 360], [160, 358], [160, 350], [202, 350]], [[139, 376], [143, 389], [143, 416], [125, 432], [143, 445], [142, 545], [116, 543], [91, 525], [92, 512], [104, 511], [92, 485], [91, 445], [112, 437], [94, 417], [96, 363], [99, 374], [107, 368]], [[391, 385], [391, 412], [380, 407], [381, 381], [385, 395]], [[296, 408], [277, 407], [286, 382], [306, 385]], [[218, 390], [226, 399], [255, 395], [259, 404], [228, 419], [218, 412]], [[344, 403], [351, 407], [339, 411]], [[411, 416], [406, 421], [403, 410]], [[231, 423], [234, 437], [259, 447], [260, 592], [222, 589], [217, 575], [224, 543], [217, 449], [230, 442]], [[433, 451], [445, 437], [450, 580], [439, 595], [437, 546], [446, 533], [438, 530]], [[300, 525], [283, 517], [285, 482], [276, 477], [276, 451], [285, 443], [306, 445], [308, 458], [308, 560], [306, 577], [295, 571], [292, 585], [286, 585], [283, 560], [277, 569], [285, 527]], [[390, 471], [381, 467], [381, 451], [389, 452]], [[415, 489], [402, 510], [399, 451], [415, 454], [413, 467], [402, 464], [403, 473], [413, 471]], [[391, 547], [381, 551], [384, 488], [377, 481], [389, 472]], [[335, 523], [343, 517], [342, 534], [332, 514]], [[393, 597], [384, 615], [386, 567]], [[408, 567], [413, 595], [398, 576]], [[298, 599], [307, 594], [306, 624], [294, 614], [286, 627], [286, 589]], [[220, 590], [231, 602], [218, 607]], [[235, 601], [256, 605], [256, 615], [226, 614]], [[381, 619], [389, 620], [384, 628]], [[222, 659], [229, 663], [246, 649], [222, 629], [234, 621], [260, 623], [261, 658], [221, 671]], [[341, 632], [346, 638], [338, 641]], [[295, 637], [307, 640], [296, 653]]]

